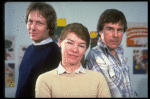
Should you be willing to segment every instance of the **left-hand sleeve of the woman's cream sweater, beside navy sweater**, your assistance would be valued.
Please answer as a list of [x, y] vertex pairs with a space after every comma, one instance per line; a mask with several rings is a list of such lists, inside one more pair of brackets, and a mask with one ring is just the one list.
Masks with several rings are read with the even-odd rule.
[[46, 83], [46, 77], [43, 77], [42, 75], [40, 75], [36, 81], [35, 97], [36, 98], [51, 97], [51, 90]]

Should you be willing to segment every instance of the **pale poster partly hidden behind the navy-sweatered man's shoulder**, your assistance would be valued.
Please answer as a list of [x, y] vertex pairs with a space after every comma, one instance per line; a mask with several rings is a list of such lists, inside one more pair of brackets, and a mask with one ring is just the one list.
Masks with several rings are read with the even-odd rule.
[[18, 66], [20, 66], [20, 63], [21, 63], [21, 61], [22, 61], [22, 59], [23, 59], [23, 56], [24, 56], [24, 53], [25, 53], [25, 51], [26, 51], [26, 49], [29, 47], [29, 45], [20, 45], [19, 46], [19, 57], [18, 57]]

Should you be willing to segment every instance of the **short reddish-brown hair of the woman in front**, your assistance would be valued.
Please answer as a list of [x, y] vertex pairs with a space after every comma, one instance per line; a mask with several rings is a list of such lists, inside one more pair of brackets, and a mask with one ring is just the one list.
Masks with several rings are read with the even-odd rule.
[[60, 40], [63, 41], [67, 34], [70, 32], [74, 32], [78, 37], [80, 37], [82, 40], [86, 41], [86, 47], [88, 49], [89, 43], [90, 43], [90, 34], [88, 32], [88, 29], [83, 26], [80, 23], [71, 23], [66, 25], [60, 34]]

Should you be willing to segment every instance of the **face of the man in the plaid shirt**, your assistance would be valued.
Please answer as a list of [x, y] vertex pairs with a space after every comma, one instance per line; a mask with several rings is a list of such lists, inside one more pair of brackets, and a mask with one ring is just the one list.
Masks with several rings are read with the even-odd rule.
[[123, 26], [120, 23], [105, 23], [103, 31], [99, 33], [104, 44], [114, 50], [120, 45], [123, 32]]

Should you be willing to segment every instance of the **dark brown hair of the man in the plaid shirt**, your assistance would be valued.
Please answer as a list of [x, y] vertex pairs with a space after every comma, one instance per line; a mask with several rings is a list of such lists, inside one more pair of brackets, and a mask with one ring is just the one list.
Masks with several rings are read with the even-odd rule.
[[121, 11], [116, 9], [107, 9], [105, 10], [101, 16], [99, 17], [98, 24], [97, 24], [97, 32], [101, 32], [105, 23], [118, 23], [120, 22], [121, 25], [124, 27], [124, 32], [127, 30], [127, 21], [124, 14]]

